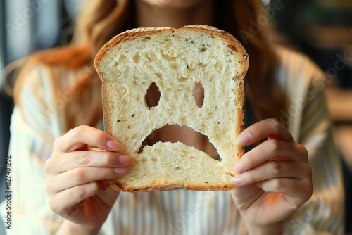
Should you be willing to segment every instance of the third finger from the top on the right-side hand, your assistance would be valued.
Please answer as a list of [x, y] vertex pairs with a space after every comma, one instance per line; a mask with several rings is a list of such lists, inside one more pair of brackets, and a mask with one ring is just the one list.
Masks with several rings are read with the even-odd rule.
[[236, 175], [232, 179], [232, 183], [237, 186], [246, 186], [268, 179], [303, 179], [304, 177], [308, 177], [308, 172], [305, 172], [305, 170], [300, 167], [300, 164], [287, 160], [272, 160], [253, 170]]

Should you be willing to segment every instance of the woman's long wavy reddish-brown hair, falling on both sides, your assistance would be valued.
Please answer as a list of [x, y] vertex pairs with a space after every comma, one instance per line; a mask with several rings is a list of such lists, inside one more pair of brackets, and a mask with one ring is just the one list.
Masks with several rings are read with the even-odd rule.
[[[80, 118], [80, 110], [92, 106], [84, 94], [96, 96], [101, 109], [101, 84], [93, 69], [97, 51], [116, 34], [135, 27], [134, 1], [129, 0], [86, 0], [76, 20], [73, 42], [70, 46], [35, 53], [18, 76], [15, 86], [15, 101], [18, 103], [22, 90], [21, 80], [28, 70], [37, 64], [62, 66], [77, 72], [76, 84], [81, 84], [80, 93], [65, 103], [63, 108], [64, 129], [77, 125], [96, 126], [101, 120], [101, 111], [92, 112], [92, 117]], [[277, 59], [268, 37], [270, 20], [265, 15], [261, 0], [214, 1], [216, 24], [222, 30], [237, 37], [249, 53], [250, 66], [246, 75], [246, 96], [253, 115], [252, 122], [264, 118], [277, 118], [284, 109], [284, 94], [275, 84]], [[258, 19], [266, 23], [258, 23]], [[90, 67], [90, 72], [79, 72]], [[49, 77], [48, 79], [57, 79]], [[56, 87], [55, 87], [56, 88]], [[61, 93], [63, 91], [60, 91]], [[91, 99], [89, 99], [91, 100]], [[84, 123], [83, 123], [84, 120]]]

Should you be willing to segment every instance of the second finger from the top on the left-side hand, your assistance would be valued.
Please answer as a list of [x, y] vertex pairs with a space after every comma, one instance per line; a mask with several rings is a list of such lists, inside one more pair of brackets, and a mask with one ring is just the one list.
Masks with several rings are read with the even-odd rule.
[[127, 155], [110, 151], [74, 151], [46, 161], [48, 174], [59, 174], [78, 167], [126, 167], [133, 162]]

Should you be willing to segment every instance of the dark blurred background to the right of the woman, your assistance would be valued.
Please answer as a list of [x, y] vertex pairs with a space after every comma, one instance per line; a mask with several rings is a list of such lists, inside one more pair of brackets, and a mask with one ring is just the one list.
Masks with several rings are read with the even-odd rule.
[[306, 54], [327, 75], [327, 106], [344, 167], [346, 234], [352, 234], [352, 1], [279, 2], [277, 42]]

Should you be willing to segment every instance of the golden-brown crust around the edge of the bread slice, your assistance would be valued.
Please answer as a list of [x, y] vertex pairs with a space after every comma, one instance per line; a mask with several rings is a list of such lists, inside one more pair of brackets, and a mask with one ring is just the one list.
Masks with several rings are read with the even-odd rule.
[[[182, 30], [191, 30], [192, 32], [199, 32], [201, 34], [211, 34], [212, 37], [225, 41], [229, 49], [241, 55], [241, 58], [242, 58], [241, 70], [237, 72], [237, 77], [234, 78], [238, 80], [239, 89], [237, 93], [237, 102], [239, 107], [241, 107], [241, 112], [237, 113], [237, 123], [239, 123], [239, 125], [237, 126], [234, 134], [236, 136], [239, 135], [244, 130], [244, 107], [245, 107], [244, 76], [246, 75], [246, 72], [249, 67], [249, 56], [246, 53], [246, 50], [244, 49], [244, 47], [240, 44], [240, 42], [228, 32], [225, 32], [223, 30], [218, 30], [215, 27], [210, 27], [205, 25], [188, 25], [180, 29], [175, 29], [171, 27], [137, 28], [133, 30], [128, 30], [126, 32], [122, 32], [121, 34], [118, 34], [117, 36], [113, 37], [113, 39], [111, 39], [109, 42], [107, 42], [101, 48], [99, 53], [96, 55], [94, 65], [96, 67], [96, 71], [98, 72], [99, 77], [101, 77], [101, 80], [104, 80], [104, 75], [99, 65], [103, 60], [103, 58], [106, 56], [106, 54], [109, 52], [109, 50], [114, 46], [117, 46], [118, 44], [125, 42], [126, 40], [132, 40], [139, 37], [149, 37], [149, 36], [153, 36], [164, 32], [175, 33], [175, 32], [180, 32]], [[107, 102], [108, 94], [106, 94], [106, 89], [104, 89], [104, 87], [102, 87], [102, 96], [103, 96], [103, 106], [104, 107], [108, 106], [108, 102]], [[111, 117], [104, 112], [104, 126], [108, 134], [112, 134], [109, 130], [113, 128], [111, 127], [110, 118]], [[236, 149], [237, 158], [241, 158], [241, 156], [244, 155], [244, 147], [236, 146], [235, 149]], [[234, 173], [227, 172], [226, 174], [231, 174], [230, 177], [234, 176]], [[136, 188], [135, 186], [131, 186], [129, 184], [120, 182], [118, 179], [113, 179], [111, 180], [111, 186], [113, 187], [113, 189], [117, 191], [127, 191], [127, 192], [172, 190], [172, 189], [180, 189], [182, 186], [184, 187], [184, 189], [201, 190], [201, 191], [204, 191], [204, 190], [227, 191], [227, 190], [236, 189], [236, 186], [234, 186], [233, 184], [230, 184], [230, 181], [222, 184], [217, 184], [217, 185], [194, 184], [191, 186], [185, 186], [184, 182], [180, 182], [179, 184], [177, 183], [149, 184], [146, 186], [139, 186], [138, 188]]]

